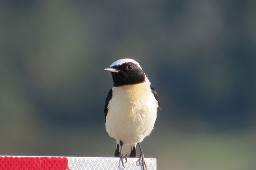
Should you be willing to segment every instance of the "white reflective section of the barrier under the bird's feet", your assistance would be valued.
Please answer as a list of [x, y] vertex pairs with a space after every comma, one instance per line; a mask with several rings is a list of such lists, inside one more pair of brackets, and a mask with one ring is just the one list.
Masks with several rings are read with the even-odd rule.
[[[67, 157], [68, 167], [71, 170], [119, 170], [119, 158], [105, 157]], [[124, 170], [141, 170], [136, 165], [138, 158], [128, 158]], [[147, 170], [157, 169], [157, 159], [145, 159]]]

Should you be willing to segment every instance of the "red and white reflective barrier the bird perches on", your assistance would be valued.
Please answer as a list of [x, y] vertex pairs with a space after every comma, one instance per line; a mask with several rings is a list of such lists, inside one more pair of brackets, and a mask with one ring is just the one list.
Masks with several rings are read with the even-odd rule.
[[[138, 158], [128, 158], [125, 170], [141, 170]], [[157, 169], [157, 160], [145, 159], [147, 170]], [[119, 170], [119, 158], [0, 156], [0, 170]]]

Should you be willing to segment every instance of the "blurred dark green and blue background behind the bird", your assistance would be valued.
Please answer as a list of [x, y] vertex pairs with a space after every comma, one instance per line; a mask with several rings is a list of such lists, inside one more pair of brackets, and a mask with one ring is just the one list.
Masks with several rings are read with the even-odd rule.
[[159, 170], [256, 169], [254, 0], [0, 0], [0, 155], [113, 156], [121, 58], [160, 96]]

